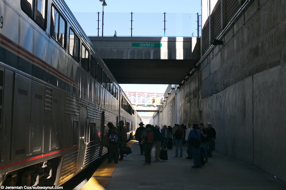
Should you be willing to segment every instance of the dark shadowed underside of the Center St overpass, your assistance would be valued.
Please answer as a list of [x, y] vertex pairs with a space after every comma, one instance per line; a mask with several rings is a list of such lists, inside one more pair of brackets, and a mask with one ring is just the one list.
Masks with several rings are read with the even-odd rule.
[[103, 59], [119, 84], [179, 84], [198, 60]]

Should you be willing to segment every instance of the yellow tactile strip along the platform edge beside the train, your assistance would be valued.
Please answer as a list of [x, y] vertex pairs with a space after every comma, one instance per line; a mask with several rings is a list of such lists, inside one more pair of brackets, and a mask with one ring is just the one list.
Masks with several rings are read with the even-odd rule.
[[[127, 145], [131, 147], [134, 142], [138, 141], [129, 141]], [[103, 190], [104, 187], [109, 182], [110, 176], [112, 176], [112, 173], [115, 169], [117, 164], [115, 163], [108, 163], [108, 161], [104, 161], [100, 167], [94, 172], [88, 182], [80, 189], [80, 190], [90, 190], [90, 189], [97, 189], [97, 190]]]

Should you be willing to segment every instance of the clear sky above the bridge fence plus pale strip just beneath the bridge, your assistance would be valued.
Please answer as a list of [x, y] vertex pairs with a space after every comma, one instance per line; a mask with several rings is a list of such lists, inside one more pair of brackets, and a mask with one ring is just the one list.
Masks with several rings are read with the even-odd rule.
[[[102, 13], [102, 2], [99, 0], [65, 0], [73, 13]], [[200, 0], [106, 0], [104, 13], [199, 13]], [[124, 91], [164, 93], [168, 85], [120, 84]]]

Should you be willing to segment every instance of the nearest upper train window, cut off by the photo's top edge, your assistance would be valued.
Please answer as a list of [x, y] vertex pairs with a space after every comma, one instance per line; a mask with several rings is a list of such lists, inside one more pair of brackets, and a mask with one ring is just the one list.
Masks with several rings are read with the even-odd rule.
[[43, 30], [47, 28], [47, 0], [21, 0], [21, 8]]

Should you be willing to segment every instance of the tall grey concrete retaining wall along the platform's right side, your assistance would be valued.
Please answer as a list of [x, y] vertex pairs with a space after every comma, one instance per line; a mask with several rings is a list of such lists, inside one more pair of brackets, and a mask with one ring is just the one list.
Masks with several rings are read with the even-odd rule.
[[284, 181], [285, 37], [286, 1], [253, 0], [177, 95], [179, 123], [211, 122], [216, 151]]

